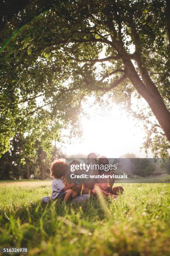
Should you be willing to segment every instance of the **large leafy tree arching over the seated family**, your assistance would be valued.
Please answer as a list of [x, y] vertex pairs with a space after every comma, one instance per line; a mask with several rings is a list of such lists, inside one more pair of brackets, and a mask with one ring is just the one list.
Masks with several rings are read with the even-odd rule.
[[127, 106], [144, 98], [157, 121], [133, 112], [169, 148], [168, 8], [165, 0], [39, 0], [3, 13], [0, 141], [32, 115], [75, 124], [81, 100], [95, 92]]

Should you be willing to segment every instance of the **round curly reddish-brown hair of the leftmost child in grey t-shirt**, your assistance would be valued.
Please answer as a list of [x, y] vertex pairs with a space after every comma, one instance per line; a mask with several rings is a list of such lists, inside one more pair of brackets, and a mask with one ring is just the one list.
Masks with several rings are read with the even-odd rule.
[[53, 161], [50, 167], [50, 175], [52, 178], [61, 179], [67, 172], [68, 165], [65, 163], [65, 159], [57, 159]]

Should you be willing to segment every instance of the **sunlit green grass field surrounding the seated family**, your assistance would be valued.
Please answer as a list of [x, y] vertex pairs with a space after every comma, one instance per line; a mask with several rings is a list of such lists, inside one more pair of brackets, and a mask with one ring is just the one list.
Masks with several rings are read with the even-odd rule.
[[170, 184], [123, 184], [118, 200], [43, 205], [51, 181], [0, 182], [0, 247], [29, 255], [170, 255]]

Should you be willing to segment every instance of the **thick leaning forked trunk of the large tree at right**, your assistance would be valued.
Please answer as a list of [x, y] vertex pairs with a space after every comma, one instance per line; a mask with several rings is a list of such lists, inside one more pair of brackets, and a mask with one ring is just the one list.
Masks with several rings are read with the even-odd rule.
[[[110, 26], [110, 24], [109, 24]], [[112, 29], [109, 27], [110, 30]], [[124, 65], [125, 72], [132, 82], [133, 86], [136, 88], [138, 93], [148, 102], [150, 108], [153, 111], [153, 114], [157, 118], [160, 126], [162, 127], [165, 136], [168, 141], [170, 141], [170, 112], [167, 109], [158, 88], [155, 86], [154, 82], [150, 78], [148, 74], [148, 70], [145, 67], [145, 64], [142, 62], [140, 57], [140, 40], [138, 34], [133, 27], [133, 36], [135, 41], [136, 52], [133, 54], [133, 58], [137, 65], [138, 70], [140, 72], [140, 76], [138, 75], [132, 61], [131, 57], [127, 54], [127, 51], [124, 49], [123, 43], [112, 38], [112, 45], [120, 55]]]

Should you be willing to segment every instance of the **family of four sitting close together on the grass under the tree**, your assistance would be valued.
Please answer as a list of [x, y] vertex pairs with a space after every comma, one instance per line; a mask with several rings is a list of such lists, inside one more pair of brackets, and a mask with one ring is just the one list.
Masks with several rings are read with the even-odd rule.
[[[99, 164], [108, 165], [109, 161], [105, 156], [101, 156], [97, 160], [97, 155], [95, 153], [90, 153], [87, 156], [88, 164]], [[50, 168], [50, 174], [53, 178], [52, 181], [52, 200], [60, 199], [65, 202], [72, 200], [80, 195], [97, 195], [97, 191], [105, 195], [106, 197], [111, 197], [116, 199], [119, 194], [123, 192], [122, 187], [113, 187], [115, 182], [114, 179], [109, 180], [109, 182], [103, 182], [102, 179], [87, 180], [87, 182], [72, 182], [69, 178], [66, 178], [68, 172], [70, 172], [70, 165], [79, 164], [77, 160], [72, 160], [69, 165], [65, 163], [64, 159], [55, 160]], [[97, 170], [98, 174], [103, 174], [105, 171]]]

